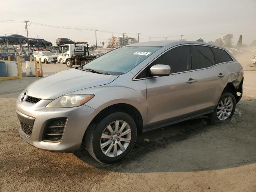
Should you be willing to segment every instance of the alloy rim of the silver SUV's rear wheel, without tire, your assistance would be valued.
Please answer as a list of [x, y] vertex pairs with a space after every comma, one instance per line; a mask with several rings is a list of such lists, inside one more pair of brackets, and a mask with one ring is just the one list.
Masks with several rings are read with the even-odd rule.
[[217, 107], [217, 117], [219, 120], [226, 120], [233, 109], [233, 101], [231, 97], [224, 98]]

